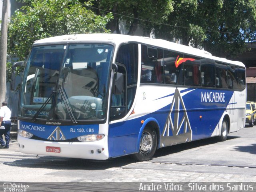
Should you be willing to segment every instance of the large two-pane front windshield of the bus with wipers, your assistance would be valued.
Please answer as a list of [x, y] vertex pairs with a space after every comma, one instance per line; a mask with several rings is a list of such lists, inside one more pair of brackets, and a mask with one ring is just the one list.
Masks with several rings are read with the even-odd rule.
[[109, 44], [34, 46], [24, 70], [19, 116], [103, 120], [112, 52]]

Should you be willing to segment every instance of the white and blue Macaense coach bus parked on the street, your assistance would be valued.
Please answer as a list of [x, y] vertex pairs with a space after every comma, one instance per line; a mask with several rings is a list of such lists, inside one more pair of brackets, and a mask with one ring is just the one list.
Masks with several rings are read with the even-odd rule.
[[245, 66], [138, 36], [36, 41], [19, 98], [23, 153], [106, 160], [218, 137], [245, 125]]

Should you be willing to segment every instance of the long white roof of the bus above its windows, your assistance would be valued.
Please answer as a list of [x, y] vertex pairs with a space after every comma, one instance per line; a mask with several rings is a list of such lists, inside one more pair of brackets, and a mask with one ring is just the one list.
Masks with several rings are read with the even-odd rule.
[[182, 52], [184, 54], [192, 54], [198, 57], [209, 58], [220, 62], [235, 64], [238, 66], [243, 66], [242, 62], [227, 60], [226, 58], [219, 58], [212, 56], [207, 51], [196, 49], [190, 46], [185, 46], [182, 44], [177, 44], [174, 42], [169, 42], [162, 39], [153, 39], [149, 37], [141, 36], [130, 36], [130, 35], [121, 35], [121, 34], [71, 34], [63, 36], [55, 36], [50, 38], [45, 38], [37, 40], [34, 42], [34, 45], [39, 44], [51, 44], [51, 43], [67, 43], [67, 42], [113, 42], [116, 45], [122, 44], [124, 42], [138, 42], [140, 44], [147, 44], [155, 46], [156, 48], [165, 48], [168, 50], [174, 50]]

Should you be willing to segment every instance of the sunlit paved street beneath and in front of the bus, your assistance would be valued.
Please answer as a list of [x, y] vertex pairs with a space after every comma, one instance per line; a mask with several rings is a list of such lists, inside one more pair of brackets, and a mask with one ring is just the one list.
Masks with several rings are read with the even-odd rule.
[[[0, 150], [2, 182], [256, 182], [256, 126], [228, 136], [158, 150], [147, 162], [105, 161], [19, 152], [16, 137]], [[4, 177], [3, 177], [4, 176]]]

